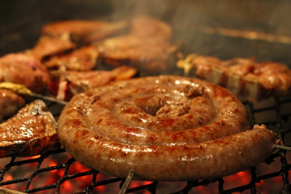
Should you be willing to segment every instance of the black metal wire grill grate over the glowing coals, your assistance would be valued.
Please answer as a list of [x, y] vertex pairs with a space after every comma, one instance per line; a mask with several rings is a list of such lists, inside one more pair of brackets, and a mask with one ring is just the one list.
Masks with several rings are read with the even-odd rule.
[[[291, 99], [269, 99], [255, 104], [247, 102], [244, 104], [252, 124], [265, 124], [269, 129], [277, 132], [287, 146], [291, 145], [289, 140], [291, 139]], [[48, 107], [57, 119], [62, 107], [54, 103], [49, 103]], [[76, 168], [76, 165], [79, 168]], [[262, 188], [262, 185], [268, 182], [272, 187], [278, 187], [276, 193], [290, 194], [290, 170], [291, 154], [289, 151], [280, 150], [265, 162], [248, 169], [243, 176], [238, 173], [212, 181], [188, 182], [133, 180], [126, 193], [188, 194], [207, 191], [219, 194], [236, 192], [264, 194], [269, 191], [268, 188]], [[243, 181], [246, 177], [248, 179]], [[48, 180], [49, 178], [51, 180]], [[24, 193], [118, 193], [124, 181], [123, 178], [108, 176], [82, 166], [64, 149], [49, 151], [36, 157], [0, 160], [0, 186]], [[75, 191], [68, 191], [67, 187], [73, 187]]]

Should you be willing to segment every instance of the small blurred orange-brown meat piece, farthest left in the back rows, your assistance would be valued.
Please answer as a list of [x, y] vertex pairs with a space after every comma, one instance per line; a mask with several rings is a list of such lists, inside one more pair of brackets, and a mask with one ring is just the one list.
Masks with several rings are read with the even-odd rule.
[[29, 51], [41, 61], [49, 59], [55, 55], [62, 55], [76, 48], [68, 37], [48, 37], [41, 36], [35, 46]]

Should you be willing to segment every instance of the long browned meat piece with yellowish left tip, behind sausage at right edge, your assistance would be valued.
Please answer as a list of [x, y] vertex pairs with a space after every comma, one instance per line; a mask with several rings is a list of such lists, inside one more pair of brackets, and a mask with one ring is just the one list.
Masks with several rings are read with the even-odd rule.
[[252, 58], [223, 61], [191, 54], [185, 60], [178, 61], [177, 66], [186, 72], [194, 68], [196, 76], [224, 86], [251, 102], [291, 94], [291, 69], [280, 63], [258, 63]]

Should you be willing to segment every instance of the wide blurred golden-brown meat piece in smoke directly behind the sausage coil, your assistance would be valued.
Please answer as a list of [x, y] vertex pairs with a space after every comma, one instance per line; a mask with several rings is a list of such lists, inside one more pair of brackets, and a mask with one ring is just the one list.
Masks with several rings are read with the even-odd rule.
[[[133, 37], [124, 37], [130, 42]], [[119, 40], [121, 41], [121, 40]], [[170, 43], [149, 43], [139, 41], [137, 45], [120, 46], [119, 48], [99, 47], [102, 63], [108, 65], [131, 65], [138, 70], [160, 74], [173, 68], [178, 59], [179, 46]]]

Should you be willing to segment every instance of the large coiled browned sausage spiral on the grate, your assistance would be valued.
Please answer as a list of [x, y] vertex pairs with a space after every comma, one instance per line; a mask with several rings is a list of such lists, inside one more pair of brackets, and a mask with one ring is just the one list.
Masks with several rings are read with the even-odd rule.
[[133, 171], [141, 180], [225, 176], [265, 160], [274, 143], [264, 127], [248, 130], [246, 109], [228, 90], [178, 76], [78, 94], [58, 124], [59, 141], [76, 160], [119, 177]]

